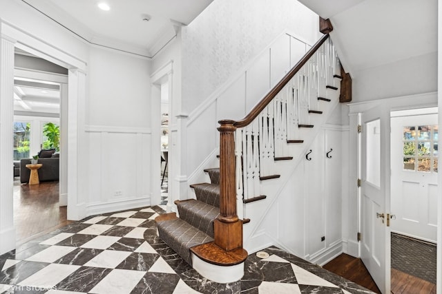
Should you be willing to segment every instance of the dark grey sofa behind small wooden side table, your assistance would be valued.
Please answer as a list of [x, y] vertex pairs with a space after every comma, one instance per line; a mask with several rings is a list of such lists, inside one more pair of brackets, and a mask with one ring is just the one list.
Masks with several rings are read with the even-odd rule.
[[[22, 183], [29, 182], [30, 169], [26, 165], [30, 164], [30, 160], [31, 158], [20, 160], [20, 182]], [[40, 181], [59, 180], [60, 158], [59, 154], [55, 154], [55, 149], [41, 150], [38, 163], [42, 165], [38, 169]]]

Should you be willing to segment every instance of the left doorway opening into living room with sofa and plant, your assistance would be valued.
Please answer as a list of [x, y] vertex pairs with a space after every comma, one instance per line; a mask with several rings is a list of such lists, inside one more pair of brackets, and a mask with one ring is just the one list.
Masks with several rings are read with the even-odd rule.
[[62, 144], [67, 126], [61, 111], [67, 84], [66, 68], [15, 49], [12, 197], [17, 245], [68, 224], [67, 167], [61, 158], [67, 147]]

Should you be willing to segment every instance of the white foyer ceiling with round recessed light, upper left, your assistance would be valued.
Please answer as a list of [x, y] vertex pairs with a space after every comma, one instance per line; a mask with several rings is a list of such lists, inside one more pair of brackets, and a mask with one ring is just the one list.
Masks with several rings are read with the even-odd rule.
[[[152, 57], [175, 36], [174, 25], [188, 25], [213, 0], [21, 1], [90, 43]], [[99, 2], [111, 10], [100, 10]]]

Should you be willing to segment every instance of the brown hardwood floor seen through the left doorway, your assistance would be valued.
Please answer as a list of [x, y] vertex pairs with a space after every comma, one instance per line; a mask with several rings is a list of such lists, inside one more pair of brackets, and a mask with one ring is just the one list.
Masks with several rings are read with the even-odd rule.
[[14, 222], [17, 245], [69, 224], [59, 207], [59, 182], [22, 185], [14, 181]]

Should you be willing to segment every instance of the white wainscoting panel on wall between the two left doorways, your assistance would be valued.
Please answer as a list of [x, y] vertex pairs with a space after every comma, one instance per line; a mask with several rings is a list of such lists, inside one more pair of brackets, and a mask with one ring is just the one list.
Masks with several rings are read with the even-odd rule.
[[151, 129], [86, 125], [88, 215], [151, 204]]

